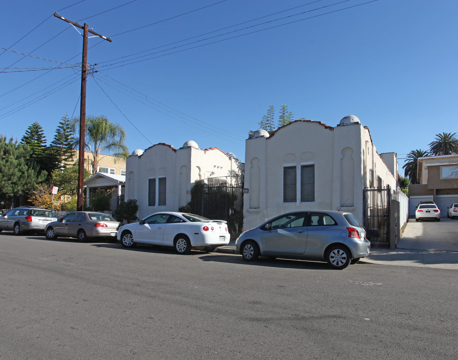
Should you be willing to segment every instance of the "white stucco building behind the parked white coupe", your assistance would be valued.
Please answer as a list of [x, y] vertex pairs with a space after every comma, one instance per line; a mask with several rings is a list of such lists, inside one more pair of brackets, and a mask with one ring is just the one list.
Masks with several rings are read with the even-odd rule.
[[202, 150], [194, 141], [179, 149], [158, 143], [127, 157], [125, 200], [137, 200], [139, 218], [177, 211], [190, 201], [195, 180], [232, 183], [242, 174], [243, 163], [230, 152], [216, 147]]

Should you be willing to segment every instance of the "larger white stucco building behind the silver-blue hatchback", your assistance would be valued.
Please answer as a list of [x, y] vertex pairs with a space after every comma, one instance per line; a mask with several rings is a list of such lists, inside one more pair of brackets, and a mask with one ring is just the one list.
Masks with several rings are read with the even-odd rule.
[[341, 209], [362, 222], [363, 188], [389, 185], [396, 191], [397, 161], [390, 154], [388, 167], [353, 115], [335, 127], [296, 120], [270, 136], [255, 131], [245, 142], [243, 228], [309, 209]]

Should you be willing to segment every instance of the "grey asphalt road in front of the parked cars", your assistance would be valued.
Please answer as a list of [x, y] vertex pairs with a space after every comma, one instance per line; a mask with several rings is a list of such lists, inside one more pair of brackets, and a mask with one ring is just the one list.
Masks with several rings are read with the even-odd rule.
[[1, 359], [453, 359], [447, 269], [0, 233]]

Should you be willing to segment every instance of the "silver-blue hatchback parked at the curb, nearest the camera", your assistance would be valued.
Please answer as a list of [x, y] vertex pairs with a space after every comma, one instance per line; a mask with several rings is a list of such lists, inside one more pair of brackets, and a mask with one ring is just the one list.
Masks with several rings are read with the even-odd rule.
[[259, 256], [327, 261], [335, 269], [370, 252], [365, 229], [350, 212], [295, 211], [244, 231], [235, 240], [246, 261]]

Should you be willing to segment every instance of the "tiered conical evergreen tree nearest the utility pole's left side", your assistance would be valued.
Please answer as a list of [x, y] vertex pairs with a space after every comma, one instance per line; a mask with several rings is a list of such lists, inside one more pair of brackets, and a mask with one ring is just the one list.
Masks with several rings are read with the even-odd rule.
[[54, 139], [50, 143], [64, 167], [68, 166], [73, 159], [75, 140], [73, 130], [74, 120], [70, 120], [65, 114], [60, 118], [59, 126], [55, 129]]

